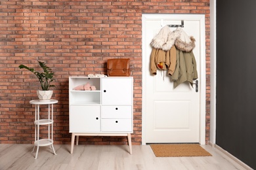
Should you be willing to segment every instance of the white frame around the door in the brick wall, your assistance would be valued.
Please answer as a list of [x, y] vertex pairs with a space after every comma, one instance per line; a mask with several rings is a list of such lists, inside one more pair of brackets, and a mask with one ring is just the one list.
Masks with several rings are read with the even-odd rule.
[[147, 20], [194, 20], [200, 22], [200, 30], [204, 33], [200, 36], [200, 82], [199, 82], [199, 92], [200, 92], [200, 113], [199, 113], [199, 141], [200, 144], [205, 144], [205, 88], [206, 88], [206, 72], [205, 72], [205, 15], [204, 14], [142, 14], [142, 145], [146, 144], [146, 74], [149, 71], [146, 70], [146, 21]]

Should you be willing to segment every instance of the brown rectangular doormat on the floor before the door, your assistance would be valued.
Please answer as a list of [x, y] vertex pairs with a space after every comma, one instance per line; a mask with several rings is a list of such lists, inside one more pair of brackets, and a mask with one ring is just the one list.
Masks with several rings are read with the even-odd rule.
[[150, 144], [156, 157], [211, 156], [199, 144]]

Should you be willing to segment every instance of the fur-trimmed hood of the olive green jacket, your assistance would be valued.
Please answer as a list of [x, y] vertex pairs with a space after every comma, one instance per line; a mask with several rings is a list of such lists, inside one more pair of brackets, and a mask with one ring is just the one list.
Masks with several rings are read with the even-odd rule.
[[175, 41], [176, 48], [182, 50], [183, 52], [191, 52], [196, 46], [196, 40], [192, 36], [188, 37], [181, 27], [178, 27], [177, 30], [178, 29], [181, 36]]

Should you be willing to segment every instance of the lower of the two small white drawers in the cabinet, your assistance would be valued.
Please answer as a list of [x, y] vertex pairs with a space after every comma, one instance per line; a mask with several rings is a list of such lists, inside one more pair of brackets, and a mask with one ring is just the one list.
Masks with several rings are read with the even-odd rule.
[[102, 119], [102, 132], [132, 132], [131, 119]]

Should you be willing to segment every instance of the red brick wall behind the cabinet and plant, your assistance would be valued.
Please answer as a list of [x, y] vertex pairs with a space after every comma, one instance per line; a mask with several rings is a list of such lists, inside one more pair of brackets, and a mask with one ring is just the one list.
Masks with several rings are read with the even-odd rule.
[[[1, 0], [0, 143], [33, 143], [37, 78], [20, 70], [45, 61], [56, 75], [54, 143], [70, 143], [68, 76], [106, 74], [106, 59], [131, 58], [134, 84], [133, 144], [141, 144], [142, 14], [205, 14], [209, 139], [209, 0]], [[43, 131], [42, 131], [43, 133]], [[46, 133], [46, 132], [45, 132]], [[45, 135], [45, 134], [43, 134]], [[125, 137], [81, 137], [87, 144], [127, 144]]]

